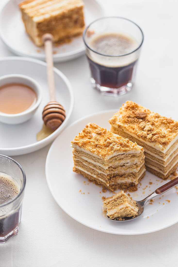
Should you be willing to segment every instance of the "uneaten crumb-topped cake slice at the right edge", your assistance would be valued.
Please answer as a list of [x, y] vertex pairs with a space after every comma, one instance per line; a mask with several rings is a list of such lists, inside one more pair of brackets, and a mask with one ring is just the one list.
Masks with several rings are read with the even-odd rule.
[[111, 132], [144, 148], [146, 169], [166, 179], [178, 166], [178, 122], [126, 101], [109, 120]]

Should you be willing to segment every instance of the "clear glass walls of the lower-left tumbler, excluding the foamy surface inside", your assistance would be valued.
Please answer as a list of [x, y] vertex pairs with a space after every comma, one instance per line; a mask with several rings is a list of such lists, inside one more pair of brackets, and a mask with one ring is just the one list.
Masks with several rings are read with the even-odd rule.
[[0, 155], [0, 172], [14, 178], [20, 187], [20, 193], [15, 198], [0, 205], [0, 243], [4, 243], [18, 233], [26, 177], [17, 161], [4, 155]]

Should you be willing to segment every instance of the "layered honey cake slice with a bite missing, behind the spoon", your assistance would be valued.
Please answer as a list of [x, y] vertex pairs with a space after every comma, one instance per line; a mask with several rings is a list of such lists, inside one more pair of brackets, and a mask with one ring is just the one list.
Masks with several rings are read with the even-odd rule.
[[111, 191], [137, 190], [145, 174], [144, 149], [95, 123], [73, 139], [73, 171]]

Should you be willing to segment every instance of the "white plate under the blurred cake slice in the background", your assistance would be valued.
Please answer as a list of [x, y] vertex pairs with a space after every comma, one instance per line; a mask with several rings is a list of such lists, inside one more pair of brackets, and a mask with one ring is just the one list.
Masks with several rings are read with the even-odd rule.
[[[19, 56], [34, 57], [45, 60], [44, 48], [33, 44], [25, 32], [24, 23], [18, 3], [21, 0], [9, 0], [2, 8], [0, 14], [0, 35], [6, 46]], [[104, 16], [102, 7], [96, 0], [83, 0], [85, 24]], [[54, 47], [54, 62], [72, 60], [84, 54], [85, 48], [82, 36], [72, 39], [72, 42]]]

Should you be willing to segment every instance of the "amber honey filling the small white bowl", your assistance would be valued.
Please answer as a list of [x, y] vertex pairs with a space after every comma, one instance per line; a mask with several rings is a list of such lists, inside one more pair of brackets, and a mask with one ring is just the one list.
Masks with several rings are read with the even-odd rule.
[[36, 92], [25, 84], [9, 83], [0, 87], [0, 112], [17, 114], [33, 106]]

